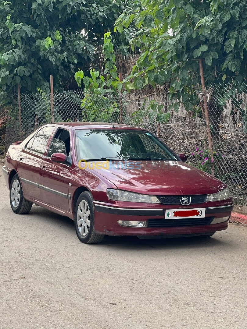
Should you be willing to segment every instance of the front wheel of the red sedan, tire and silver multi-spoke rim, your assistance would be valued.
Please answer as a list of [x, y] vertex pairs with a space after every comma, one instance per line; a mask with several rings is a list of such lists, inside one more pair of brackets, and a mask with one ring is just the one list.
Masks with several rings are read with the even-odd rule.
[[95, 233], [94, 228], [94, 204], [90, 192], [82, 192], [75, 205], [75, 232], [83, 243], [99, 243], [104, 235]]

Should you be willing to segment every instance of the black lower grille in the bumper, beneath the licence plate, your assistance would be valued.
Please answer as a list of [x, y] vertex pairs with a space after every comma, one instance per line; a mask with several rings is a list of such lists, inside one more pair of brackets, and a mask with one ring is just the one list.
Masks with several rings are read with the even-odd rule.
[[181, 219], [148, 219], [148, 227], [181, 227], [209, 225], [214, 217]]

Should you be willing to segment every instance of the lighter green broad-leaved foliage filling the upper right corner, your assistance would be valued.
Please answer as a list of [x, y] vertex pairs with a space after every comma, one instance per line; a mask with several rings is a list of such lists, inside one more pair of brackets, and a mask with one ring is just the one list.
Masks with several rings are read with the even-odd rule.
[[[194, 86], [200, 84], [198, 59], [203, 59], [206, 86], [235, 82], [238, 92], [247, 69], [246, 0], [142, 0], [142, 8], [124, 11], [116, 21], [121, 32], [134, 22], [132, 49], [141, 48], [125, 88], [148, 83], [169, 85], [170, 100], [187, 110], [198, 103]], [[222, 99], [231, 95], [223, 89]], [[224, 105], [222, 99], [217, 106]], [[220, 103], [221, 102], [221, 103]], [[179, 103], [175, 104], [178, 110]]]

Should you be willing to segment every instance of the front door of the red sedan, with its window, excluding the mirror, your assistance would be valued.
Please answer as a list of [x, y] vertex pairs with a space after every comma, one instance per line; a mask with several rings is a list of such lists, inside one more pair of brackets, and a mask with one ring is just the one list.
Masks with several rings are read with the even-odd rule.
[[70, 131], [58, 128], [52, 138], [47, 156], [44, 157], [39, 184], [41, 199], [44, 203], [69, 212], [69, 180], [73, 171], [73, 164], [60, 164], [51, 161], [51, 155], [62, 152], [69, 155], [71, 149]]

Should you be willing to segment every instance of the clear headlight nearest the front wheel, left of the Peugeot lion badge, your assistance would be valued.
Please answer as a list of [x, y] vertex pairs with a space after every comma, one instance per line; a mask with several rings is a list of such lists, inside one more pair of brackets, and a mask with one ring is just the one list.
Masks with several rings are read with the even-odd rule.
[[107, 189], [106, 194], [110, 200], [160, 203], [156, 196], [132, 193], [122, 190]]

